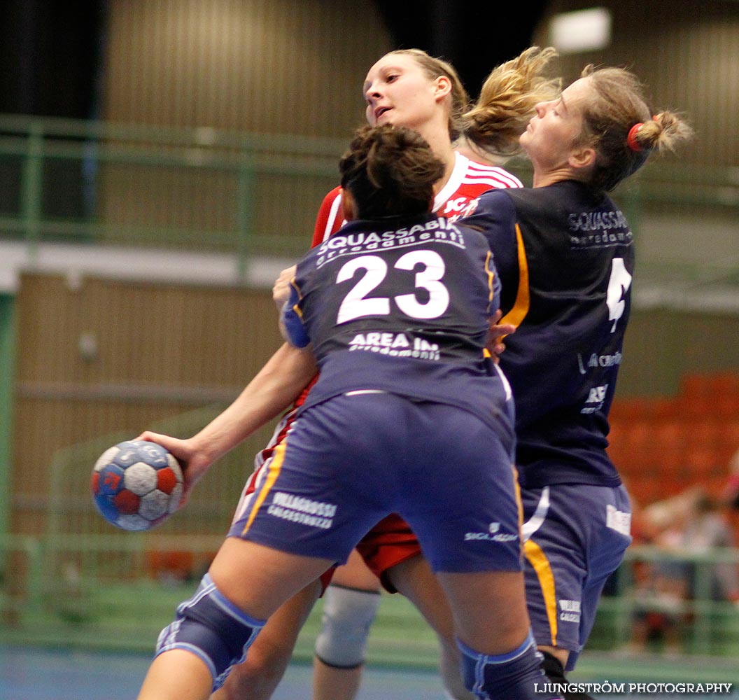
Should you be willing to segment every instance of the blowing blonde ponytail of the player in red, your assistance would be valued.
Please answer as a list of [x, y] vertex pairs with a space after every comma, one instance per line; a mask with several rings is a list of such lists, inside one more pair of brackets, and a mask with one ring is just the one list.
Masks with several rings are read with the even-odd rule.
[[462, 117], [463, 135], [473, 150], [500, 156], [520, 152], [519, 137], [534, 107], [562, 92], [561, 78], [545, 75], [556, 56], [552, 47], [530, 47], [492, 70], [477, 103]]

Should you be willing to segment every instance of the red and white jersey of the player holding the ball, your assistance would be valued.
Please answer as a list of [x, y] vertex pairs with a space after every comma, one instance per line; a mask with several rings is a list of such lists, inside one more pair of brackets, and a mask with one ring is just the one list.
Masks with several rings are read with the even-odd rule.
[[[452, 175], [434, 197], [433, 211], [440, 217], [456, 221], [462, 217], [468, 203], [480, 197], [480, 194], [488, 189], [523, 187], [514, 174], [503, 168], [483, 166], [481, 163], [469, 160], [461, 153], [455, 155], [457, 160], [454, 163]], [[341, 211], [341, 187], [335, 187], [321, 203], [318, 217], [316, 217], [311, 248], [336, 233], [344, 223], [344, 214]]]

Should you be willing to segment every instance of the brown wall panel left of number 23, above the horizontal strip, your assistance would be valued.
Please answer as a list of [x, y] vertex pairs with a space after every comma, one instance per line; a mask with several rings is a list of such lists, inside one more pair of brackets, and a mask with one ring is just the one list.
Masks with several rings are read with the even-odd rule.
[[[127, 381], [238, 386], [279, 336], [264, 290], [144, 285], [27, 275], [18, 296], [22, 323], [18, 381]], [[98, 342], [95, 359], [78, 349]], [[203, 360], [197, 359], [202, 356]]]

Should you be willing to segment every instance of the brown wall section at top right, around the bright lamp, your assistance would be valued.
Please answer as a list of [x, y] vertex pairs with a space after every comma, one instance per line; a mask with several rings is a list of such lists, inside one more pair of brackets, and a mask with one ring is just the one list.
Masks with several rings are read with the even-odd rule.
[[[548, 19], [558, 12], [592, 7], [587, 0], [554, 0], [535, 40], [547, 44]], [[650, 88], [657, 107], [678, 109], [698, 138], [681, 149], [681, 162], [739, 164], [739, 3], [675, 0], [602, 2], [613, 18], [610, 46], [560, 61], [568, 80], [585, 64], [629, 67]]]

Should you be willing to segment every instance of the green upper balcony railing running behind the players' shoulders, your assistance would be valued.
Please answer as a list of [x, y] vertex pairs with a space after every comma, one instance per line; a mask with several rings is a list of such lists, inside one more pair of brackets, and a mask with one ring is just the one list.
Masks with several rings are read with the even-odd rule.
[[[344, 140], [0, 115], [0, 239], [294, 256], [338, 181]], [[523, 160], [509, 164], [530, 180]], [[650, 163], [616, 191], [644, 214], [739, 219], [739, 167]], [[731, 223], [729, 222], [729, 225]], [[736, 226], [736, 224], [734, 223]], [[739, 228], [737, 228], [739, 237]], [[665, 263], [659, 279], [739, 286], [739, 254]]]

